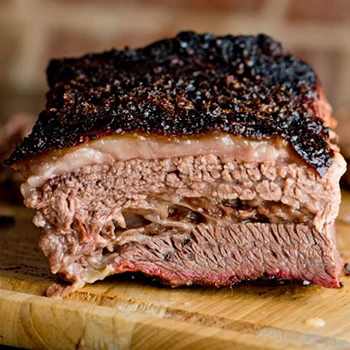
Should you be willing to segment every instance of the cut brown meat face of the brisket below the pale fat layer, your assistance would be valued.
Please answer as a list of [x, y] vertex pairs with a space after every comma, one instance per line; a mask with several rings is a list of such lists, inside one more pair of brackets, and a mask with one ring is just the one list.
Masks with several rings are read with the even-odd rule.
[[340, 156], [322, 179], [295, 163], [132, 159], [57, 176], [25, 203], [52, 271], [73, 283], [50, 293], [124, 271], [171, 285], [284, 278], [335, 287], [343, 170]]

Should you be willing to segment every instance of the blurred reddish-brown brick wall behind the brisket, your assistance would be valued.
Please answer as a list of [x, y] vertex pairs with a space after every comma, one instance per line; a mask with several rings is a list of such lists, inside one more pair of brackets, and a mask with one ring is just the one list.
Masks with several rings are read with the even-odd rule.
[[37, 115], [50, 57], [137, 47], [180, 30], [264, 32], [312, 63], [350, 108], [350, 0], [0, 0], [0, 120]]

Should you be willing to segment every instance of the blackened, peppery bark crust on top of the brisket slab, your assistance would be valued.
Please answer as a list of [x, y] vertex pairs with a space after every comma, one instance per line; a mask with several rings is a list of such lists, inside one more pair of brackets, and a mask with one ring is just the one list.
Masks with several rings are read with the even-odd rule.
[[8, 164], [104, 135], [280, 135], [322, 176], [333, 161], [313, 69], [268, 36], [198, 35], [53, 60], [46, 109]]

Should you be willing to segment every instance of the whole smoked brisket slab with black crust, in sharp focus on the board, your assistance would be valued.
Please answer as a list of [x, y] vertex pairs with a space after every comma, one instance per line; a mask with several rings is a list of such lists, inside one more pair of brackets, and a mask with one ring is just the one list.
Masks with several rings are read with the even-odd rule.
[[313, 69], [265, 36], [180, 33], [53, 60], [46, 109], [8, 164], [53, 273], [338, 287], [345, 163]]

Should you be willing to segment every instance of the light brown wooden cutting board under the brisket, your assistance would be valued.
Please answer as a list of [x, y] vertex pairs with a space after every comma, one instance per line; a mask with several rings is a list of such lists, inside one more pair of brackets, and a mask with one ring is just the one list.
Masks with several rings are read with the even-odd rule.
[[[350, 277], [342, 289], [240, 285], [171, 289], [113, 276], [65, 300], [44, 297], [54, 281], [24, 208], [0, 208], [0, 344], [35, 349], [350, 349]], [[338, 220], [350, 262], [350, 195]]]

